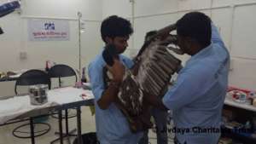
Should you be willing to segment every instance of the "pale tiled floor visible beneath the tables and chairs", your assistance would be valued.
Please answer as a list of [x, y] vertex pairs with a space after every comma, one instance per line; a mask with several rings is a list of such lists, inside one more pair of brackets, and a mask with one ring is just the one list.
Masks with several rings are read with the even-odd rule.
[[[64, 122], [64, 121], [63, 121]], [[57, 135], [55, 135], [55, 131], [58, 131], [58, 122], [55, 118], [50, 118], [48, 122], [51, 125], [51, 130], [49, 133], [39, 136], [36, 138], [36, 144], [49, 144], [50, 141], [55, 140], [57, 138]], [[76, 118], [70, 118], [69, 119], [69, 128], [73, 129], [76, 128]], [[19, 124], [9, 124], [6, 126], [0, 127], [0, 144], [29, 144], [31, 143], [30, 139], [20, 139], [16, 138], [12, 135], [12, 130], [14, 128], [20, 125]], [[63, 124], [64, 126], [64, 124]], [[63, 130], [64, 131], [64, 130]], [[89, 107], [83, 107], [82, 108], [82, 133], [92, 132], [96, 131], [95, 126], [95, 117], [91, 116], [90, 108]], [[156, 136], [155, 133], [152, 132], [152, 130], [149, 130], [149, 141], [151, 144], [156, 144]], [[73, 141], [73, 140], [72, 140]], [[57, 144], [58, 142], [56, 142]], [[67, 143], [67, 141], [64, 141], [64, 143]], [[172, 140], [170, 139], [169, 144], [172, 144]]]

